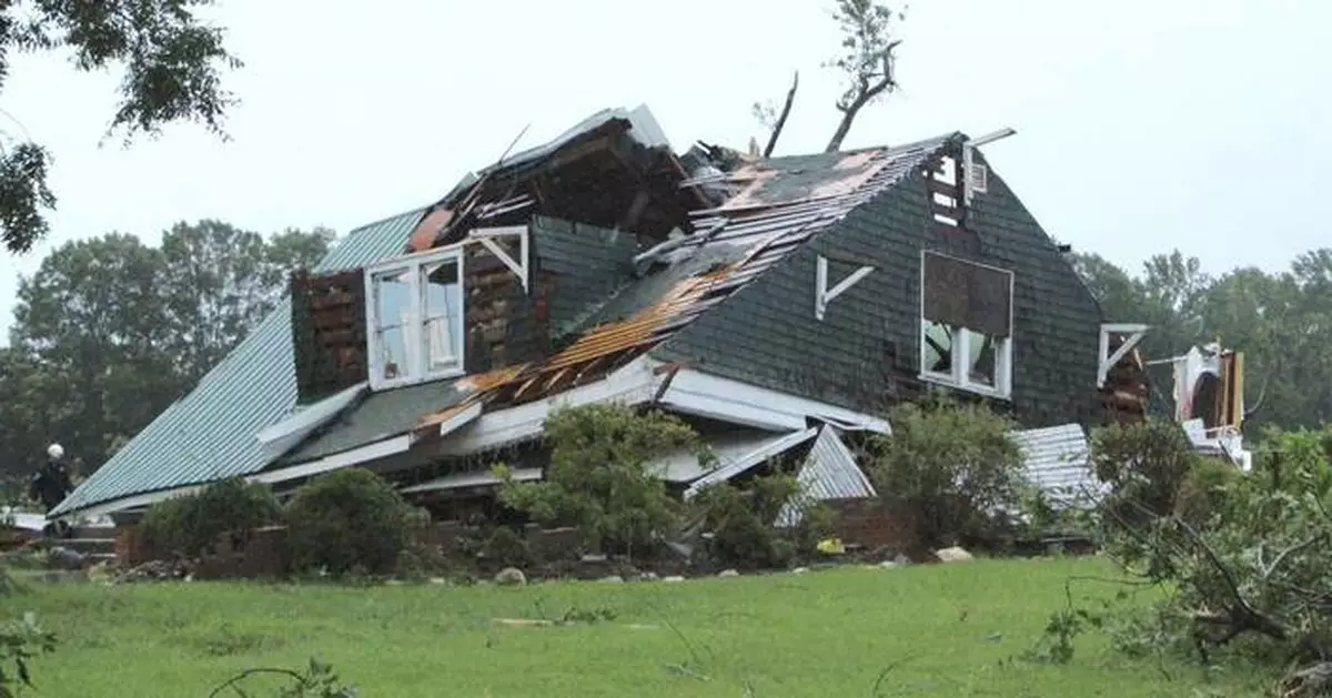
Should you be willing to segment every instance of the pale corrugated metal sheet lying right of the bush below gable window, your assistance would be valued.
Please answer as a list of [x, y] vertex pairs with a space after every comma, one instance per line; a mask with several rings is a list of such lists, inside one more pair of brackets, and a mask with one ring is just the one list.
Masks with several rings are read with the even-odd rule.
[[1026, 456], [1027, 477], [1052, 504], [1074, 505], [1103, 485], [1091, 472], [1087, 433], [1076, 424], [1012, 432]]

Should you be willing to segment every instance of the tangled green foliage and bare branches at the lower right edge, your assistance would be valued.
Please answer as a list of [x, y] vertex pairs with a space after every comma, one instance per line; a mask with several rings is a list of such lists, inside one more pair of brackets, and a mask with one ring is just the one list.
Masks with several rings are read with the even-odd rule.
[[1106, 550], [1173, 594], [1127, 623], [1116, 646], [1225, 647], [1252, 661], [1312, 662], [1332, 653], [1332, 438], [1269, 430], [1252, 473], [1199, 460], [1164, 424], [1102, 430], [1098, 472]]

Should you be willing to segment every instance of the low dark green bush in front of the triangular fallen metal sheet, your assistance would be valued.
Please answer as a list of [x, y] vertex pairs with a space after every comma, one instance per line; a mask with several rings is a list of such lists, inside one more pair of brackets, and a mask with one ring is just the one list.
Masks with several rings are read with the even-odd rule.
[[[714, 559], [739, 567], [785, 567], [810, 553], [815, 538], [831, 529], [830, 512], [801, 501], [799, 492], [795, 477], [781, 469], [743, 485], [719, 482], [699, 492], [691, 505], [713, 533], [709, 551]], [[775, 522], [787, 502], [805, 505], [805, 517], [797, 526], [779, 529]]]

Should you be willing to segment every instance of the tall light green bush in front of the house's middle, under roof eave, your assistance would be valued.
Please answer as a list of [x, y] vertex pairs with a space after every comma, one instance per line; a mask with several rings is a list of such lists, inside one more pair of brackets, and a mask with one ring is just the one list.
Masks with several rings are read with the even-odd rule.
[[[649, 464], [682, 448], [701, 449], [685, 422], [622, 405], [561, 408], [546, 418], [553, 445], [542, 482], [517, 482], [503, 466], [503, 504], [542, 524], [578, 526], [589, 546], [646, 547], [679, 522], [679, 506]], [[702, 456], [706, 458], [706, 456]]]

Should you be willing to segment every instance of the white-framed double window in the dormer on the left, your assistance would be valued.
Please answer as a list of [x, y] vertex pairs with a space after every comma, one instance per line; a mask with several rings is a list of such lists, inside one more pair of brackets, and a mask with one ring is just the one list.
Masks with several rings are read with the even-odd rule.
[[365, 278], [370, 388], [464, 373], [461, 248], [385, 260]]

